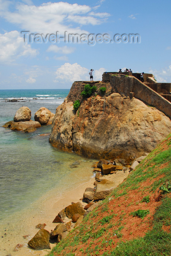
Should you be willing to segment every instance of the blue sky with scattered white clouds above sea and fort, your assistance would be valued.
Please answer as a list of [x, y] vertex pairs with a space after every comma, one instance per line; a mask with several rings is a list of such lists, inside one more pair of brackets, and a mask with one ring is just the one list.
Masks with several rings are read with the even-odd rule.
[[[170, 10], [170, 0], [0, 0], [0, 89], [69, 89], [90, 80], [91, 68], [94, 80], [131, 68], [171, 82]], [[29, 31], [25, 42], [21, 31]], [[65, 31], [93, 34], [92, 44], [50, 41], [56, 31], [61, 37]], [[116, 34], [125, 34], [126, 42], [114, 41]], [[138, 34], [139, 42], [127, 42], [129, 34]]]

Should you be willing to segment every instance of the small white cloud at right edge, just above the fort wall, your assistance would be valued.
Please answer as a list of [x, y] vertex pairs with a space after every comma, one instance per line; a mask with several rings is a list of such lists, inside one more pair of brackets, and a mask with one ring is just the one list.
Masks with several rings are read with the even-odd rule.
[[170, 83], [171, 82], [171, 65], [168, 68], [161, 70], [149, 70], [149, 73], [155, 75], [157, 82]]

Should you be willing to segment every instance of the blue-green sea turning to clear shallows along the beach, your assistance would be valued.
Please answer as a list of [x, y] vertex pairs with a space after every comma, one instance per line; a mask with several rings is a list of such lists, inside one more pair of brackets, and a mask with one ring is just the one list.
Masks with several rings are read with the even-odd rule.
[[[52, 189], [61, 194], [92, 177], [93, 159], [57, 150], [49, 143], [49, 135], [40, 136], [50, 133], [51, 125], [33, 133], [2, 127], [21, 106], [30, 108], [32, 120], [42, 106], [55, 113], [68, 93], [58, 89], [0, 90], [0, 224]], [[8, 102], [13, 98], [18, 102]], [[72, 168], [75, 161], [79, 164]]]

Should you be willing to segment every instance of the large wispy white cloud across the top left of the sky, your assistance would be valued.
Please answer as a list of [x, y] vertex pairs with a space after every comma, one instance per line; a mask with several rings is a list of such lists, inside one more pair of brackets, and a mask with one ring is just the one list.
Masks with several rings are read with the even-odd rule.
[[[103, 15], [94, 14], [90, 16], [88, 13], [91, 7], [88, 5], [69, 4], [66, 2], [43, 3], [39, 6], [18, 4], [15, 11], [9, 11], [7, 0], [0, 0], [2, 8], [0, 8], [0, 16], [8, 22], [18, 24], [23, 30], [30, 30], [32, 33], [55, 33], [60, 31], [68, 31], [68, 33], [87, 33], [80, 29], [79, 26], [84, 24], [98, 25], [103, 22]], [[7, 1], [8, 2], [8, 1]], [[30, 0], [24, 0], [31, 4]], [[12, 1], [11, 1], [11, 4]], [[107, 14], [105, 14], [107, 16]], [[100, 18], [99, 18], [100, 17]], [[105, 17], [106, 18], [106, 17]], [[77, 23], [73, 26], [71, 22]]]

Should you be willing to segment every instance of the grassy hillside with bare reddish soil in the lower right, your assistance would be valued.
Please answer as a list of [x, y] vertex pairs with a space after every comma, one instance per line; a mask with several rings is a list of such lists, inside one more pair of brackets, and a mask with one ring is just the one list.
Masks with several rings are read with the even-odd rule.
[[171, 134], [48, 255], [171, 255]]

